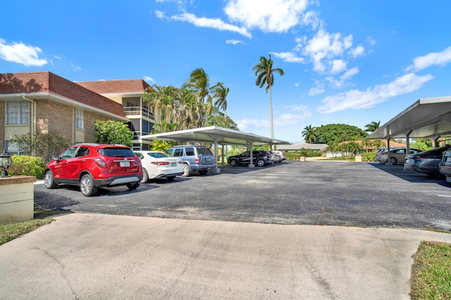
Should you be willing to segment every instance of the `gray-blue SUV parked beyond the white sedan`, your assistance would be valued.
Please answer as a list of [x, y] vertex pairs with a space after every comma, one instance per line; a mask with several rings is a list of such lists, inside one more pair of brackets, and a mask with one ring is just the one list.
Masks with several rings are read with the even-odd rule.
[[166, 150], [166, 153], [182, 159], [183, 168], [185, 168], [185, 172], [182, 174], [184, 177], [190, 176], [193, 172], [205, 175], [215, 166], [214, 155], [204, 146], [173, 146]]

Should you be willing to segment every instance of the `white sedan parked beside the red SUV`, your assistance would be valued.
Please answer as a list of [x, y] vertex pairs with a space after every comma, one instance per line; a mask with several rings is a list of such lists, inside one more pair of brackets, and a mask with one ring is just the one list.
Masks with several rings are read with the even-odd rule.
[[160, 177], [173, 180], [175, 176], [185, 173], [183, 161], [178, 157], [169, 156], [161, 151], [134, 151], [134, 153], [142, 163], [141, 183]]

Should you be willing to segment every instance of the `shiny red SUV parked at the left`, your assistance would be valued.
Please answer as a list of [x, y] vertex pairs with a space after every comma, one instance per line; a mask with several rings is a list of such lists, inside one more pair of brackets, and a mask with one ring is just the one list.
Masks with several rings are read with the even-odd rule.
[[47, 163], [44, 183], [47, 189], [59, 184], [78, 185], [84, 196], [98, 187], [127, 185], [136, 189], [142, 180], [142, 165], [129, 146], [76, 144]]

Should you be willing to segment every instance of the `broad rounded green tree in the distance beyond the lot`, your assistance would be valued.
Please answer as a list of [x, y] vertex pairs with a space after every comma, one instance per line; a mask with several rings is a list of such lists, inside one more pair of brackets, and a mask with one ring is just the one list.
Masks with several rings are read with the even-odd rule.
[[329, 124], [315, 127], [316, 142], [330, 144], [330, 142], [358, 141], [366, 137], [366, 132], [356, 126], [347, 124]]

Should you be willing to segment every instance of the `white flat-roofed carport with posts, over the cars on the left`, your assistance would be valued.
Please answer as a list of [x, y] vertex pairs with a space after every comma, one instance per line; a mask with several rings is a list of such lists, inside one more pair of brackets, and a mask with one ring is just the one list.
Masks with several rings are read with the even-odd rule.
[[[184, 144], [187, 142], [202, 142], [214, 144], [214, 156], [216, 158], [216, 173], [219, 173], [218, 168], [218, 144], [221, 146], [226, 145], [241, 145], [252, 146], [270, 145], [271, 148], [276, 144], [290, 144], [279, 139], [273, 139], [271, 137], [261, 137], [252, 133], [240, 132], [238, 130], [231, 130], [224, 127], [210, 126], [202, 128], [194, 128], [187, 130], [179, 130], [173, 132], [156, 133], [154, 135], [142, 135], [141, 139], [164, 139], [179, 142]], [[251, 151], [252, 162], [252, 151]], [[254, 165], [251, 163], [250, 168]]]

